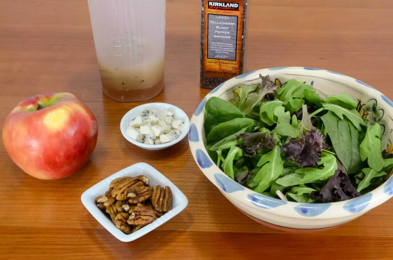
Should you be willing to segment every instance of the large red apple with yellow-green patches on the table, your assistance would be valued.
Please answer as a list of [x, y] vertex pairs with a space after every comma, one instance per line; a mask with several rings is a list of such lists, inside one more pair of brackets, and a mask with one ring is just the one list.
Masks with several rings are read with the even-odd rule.
[[3, 125], [11, 159], [39, 179], [60, 179], [79, 170], [97, 144], [93, 113], [71, 93], [46, 93], [20, 102]]

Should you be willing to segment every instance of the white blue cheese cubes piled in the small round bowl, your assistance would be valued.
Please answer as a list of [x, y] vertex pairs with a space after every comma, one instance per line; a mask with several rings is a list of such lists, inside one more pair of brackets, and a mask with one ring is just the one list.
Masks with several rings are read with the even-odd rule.
[[140, 143], [160, 145], [179, 138], [183, 128], [184, 122], [174, 120], [173, 112], [165, 110], [158, 116], [156, 110], [145, 109], [140, 116], [132, 119], [127, 135]]

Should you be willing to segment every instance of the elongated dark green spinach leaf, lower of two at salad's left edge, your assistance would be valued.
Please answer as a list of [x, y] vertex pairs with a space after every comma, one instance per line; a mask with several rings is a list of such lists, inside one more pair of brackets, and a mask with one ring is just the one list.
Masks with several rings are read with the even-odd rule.
[[235, 118], [213, 128], [206, 137], [206, 141], [208, 144], [216, 143], [225, 137], [239, 132], [243, 128], [246, 128], [246, 132], [251, 132], [253, 130], [253, 126], [254, 121], [250, 118]]

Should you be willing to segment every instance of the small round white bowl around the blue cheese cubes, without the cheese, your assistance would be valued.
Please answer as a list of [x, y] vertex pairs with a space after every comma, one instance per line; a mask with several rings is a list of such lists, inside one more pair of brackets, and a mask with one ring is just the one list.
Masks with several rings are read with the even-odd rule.
[[[161, 145], [146, 145], [144, 143], [135, 141], [134, 139], [129, 137], [126, 134], [126, 132], [128, 126], [130, 125], [130, 122], [138, 115], [140, 116], [143, 110], [148, 108], [155, 109], [157, 111], [157, 116], [160, 116], [160, 114], [163, 113], [165, 110], [170, 110], [171, 112], [173, 112], [174, 120], [182, 120], [184, 122], [184, 128], [180, 136], [169, 143], [163, 143]], [[187, 114], [185, 114], [184, 111], [178, 108], [177, 106], [167, 103], [147, 103], [137, 106], [136, 108], [132, 108], [129, 112], [127, 112], [123, 116], [120, 122], [120, 131], [121, 134], [123, 134], [124, 138], [127, 139], [130, 143], [133, 143], [134, 145], [137, 145], [147, 150], [162, 150], [182, 141], [182, 139], [187, 135], [189, 128], [190, 128], [190, 119], [188, 118]]]

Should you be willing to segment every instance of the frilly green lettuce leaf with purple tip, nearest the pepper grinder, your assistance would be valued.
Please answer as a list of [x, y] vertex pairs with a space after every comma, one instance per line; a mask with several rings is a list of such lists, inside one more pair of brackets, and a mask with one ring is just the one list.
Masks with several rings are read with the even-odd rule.
[[[244, 93], [240, 90], [239, 96], [241, 100], [239, 101], [239, 110], [243, 115], [250, 113], [254, 106], [263, 100], [266, 94], [273, 93], [278, 87], [270, 81], [269, 75], [262, 76], [259, 74], [259, 77], [262, 79], [262, 83], [257, 84], [255, 90], [253, 90], [254, 87], [248, 87], [246, 91], [243, 91]], [[244, 86], [242, 86], [241, 89], [242, 88], [244, 88]], [[246, 98], [244, 98], [244, 96], [246, 96]]]

